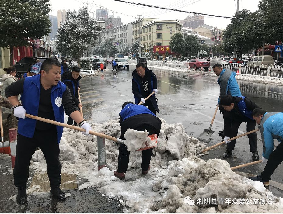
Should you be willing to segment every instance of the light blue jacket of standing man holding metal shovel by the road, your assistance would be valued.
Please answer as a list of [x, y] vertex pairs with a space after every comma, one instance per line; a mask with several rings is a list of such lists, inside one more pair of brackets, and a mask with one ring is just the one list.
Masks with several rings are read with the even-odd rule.
[[220, 95], [218, 98], [218, 104], [220, 102], [220, 98], [222, 97], [222, 95], [228, 94], [233, 97], [242, 96], [235, 76], [236, 73], [229, 69], [223, 69], [221, 71], [219, 78], [217, 80], [220, 86]]

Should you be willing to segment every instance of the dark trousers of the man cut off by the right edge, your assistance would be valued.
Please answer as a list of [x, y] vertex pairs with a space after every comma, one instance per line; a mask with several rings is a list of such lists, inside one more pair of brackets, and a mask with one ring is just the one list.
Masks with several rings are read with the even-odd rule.
[[264, 181], [269, 181], [271, 175], [274, 173], [275, 169], [278, 167], [279, 164], [283, 161], [283, 143], [279, 143], [279, 145], [271, 152], [267, 164], [264, 167], [264, 171], [261, 173], [261, 178]]

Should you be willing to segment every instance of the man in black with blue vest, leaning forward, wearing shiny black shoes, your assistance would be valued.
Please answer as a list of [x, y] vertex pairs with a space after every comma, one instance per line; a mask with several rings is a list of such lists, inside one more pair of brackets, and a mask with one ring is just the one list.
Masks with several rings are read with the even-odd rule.
[[[227, 144], [223, 158], [228, 158], [232, 155], [232, 150], [234, 150], [236, 144], [236, 139], [232, 141], [229, 139], [238, 135], [238, 129], [241, 123], [247, 123], [247, 132], [255, 129], [256, 121], [253, 119], [252, 112], [258, 106], [247, 97], [232, 97], [231, 95], [223, 95], [219, 105], [223, 108], [224, 141]], [[252, 159], [257, 161], [259, 159], [257, 152], [257, 133], [248, 134], [248, 138]]]

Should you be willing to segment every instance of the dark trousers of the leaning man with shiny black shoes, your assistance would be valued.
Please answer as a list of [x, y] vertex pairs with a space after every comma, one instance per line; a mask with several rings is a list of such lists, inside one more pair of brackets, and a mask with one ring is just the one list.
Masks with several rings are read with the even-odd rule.
[[[238, 129], [239, 126], [241, 125], [242, 121], [236, 121], [233, 120], [231, 123], [231, 136], [229, 136], [230, 138], [232, 137], [236, 137], [238, 134]], [[255, 120], [249, 120], [247, 122], [247, 132], [250, 132], [252, 130], [254, 130], [256, 127], [256, 121]], [[257, 150], [257, 133], [251, 133], [248, 134], [248, 138], [249, 138], [249, 144], [250, 144], [250, 151], [254, 152]], [[234, 150], [236, 145], [236, 139], [232, 140], [230, 143], [227, 144], [226, 149], [228, 150]]]

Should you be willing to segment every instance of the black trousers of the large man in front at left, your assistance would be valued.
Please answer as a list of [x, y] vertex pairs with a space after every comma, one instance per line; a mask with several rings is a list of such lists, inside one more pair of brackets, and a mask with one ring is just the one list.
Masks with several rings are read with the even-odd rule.
[[35, 131], [33, 138], [28, 138], [18, 133], [13, 173], [15, 186], [26, 186], [26, 182], [29, 178], [30, 160], [36, 147], [40, 147], [44, 154], [50, 187], [59, 187], [61, 184], [60, 149], [57, 143], [57, 132], [49, 130]]

